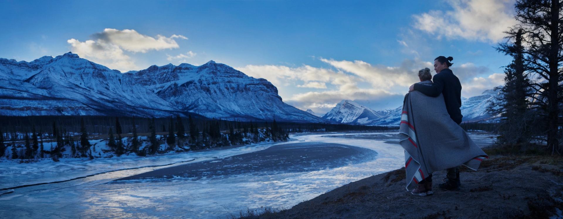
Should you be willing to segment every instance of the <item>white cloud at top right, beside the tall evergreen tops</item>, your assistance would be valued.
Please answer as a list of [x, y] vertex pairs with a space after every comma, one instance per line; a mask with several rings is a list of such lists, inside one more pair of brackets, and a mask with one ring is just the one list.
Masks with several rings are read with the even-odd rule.
[[514, 0], [446, 1], [450, 11], [414, 15], [414, 28], [446, 38], [499, 42], [503, 31], [516, 24]]

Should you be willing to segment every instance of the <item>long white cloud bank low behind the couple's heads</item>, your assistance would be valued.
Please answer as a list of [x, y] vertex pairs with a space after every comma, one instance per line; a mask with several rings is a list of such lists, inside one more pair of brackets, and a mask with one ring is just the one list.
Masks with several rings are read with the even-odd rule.
[[[237, 69], [249, 76], [270, 81], [278, 87], [284, 102], [319, 114], [330, 111], [342, 99], [369, 103], [367, 106], [376, 110], [396, 108], [403, 102], [409, 86], [419, 81], [418, 70], [424, 67], [432, 69], [432, 63], [419, 60], [404, 60], [399, 66], [372, 65], [361, 60], [319, 60], [336, 70], [308, 65], [247, 65]], [[470, 62], [455, 63], [454, 66], [457, 67], [452, 67], [452, 71], [462, 82], [464, 97], [479, 95], [485, 89], [502, 84], [503, 74], [480, 76], [490, 74], [487, 67]], [[363, 82], [367, 82], [368, 87], [365, 83], [360, 86]], [[284, 88], [289, 85], [328, 90], [295, 93], [296, 90]], [[328, 85], [332, 85], [330, 89]]]

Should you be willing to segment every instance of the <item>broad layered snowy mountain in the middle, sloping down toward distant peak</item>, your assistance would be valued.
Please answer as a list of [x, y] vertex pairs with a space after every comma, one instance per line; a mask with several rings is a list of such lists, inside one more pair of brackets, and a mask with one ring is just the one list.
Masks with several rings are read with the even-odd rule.
[[201, 66], [153, 65], [126, 75], [178, 109], [209, 118], [327, 122], [285, 104], [278, 89], [266, 79], [214, 61]]

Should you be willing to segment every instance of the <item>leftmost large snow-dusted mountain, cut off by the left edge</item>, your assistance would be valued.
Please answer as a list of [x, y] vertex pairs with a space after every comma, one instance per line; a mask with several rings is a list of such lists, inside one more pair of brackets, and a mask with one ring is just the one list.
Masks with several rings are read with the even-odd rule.
[[77, 54], [0, 58], [0, 115], [168, 116], [180, 113], [135, 79]]

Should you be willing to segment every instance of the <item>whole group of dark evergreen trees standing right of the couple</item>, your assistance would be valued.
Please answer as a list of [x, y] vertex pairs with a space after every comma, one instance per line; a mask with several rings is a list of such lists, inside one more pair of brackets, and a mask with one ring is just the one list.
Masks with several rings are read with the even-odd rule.
[[520, 0], [518, 21], [496, 49], [512, 57], [504, 86], [488, 107], [501, 115], [498, 143], [523, 150], [531, 143], [562, 154], [563, 5], [559, 1]]

